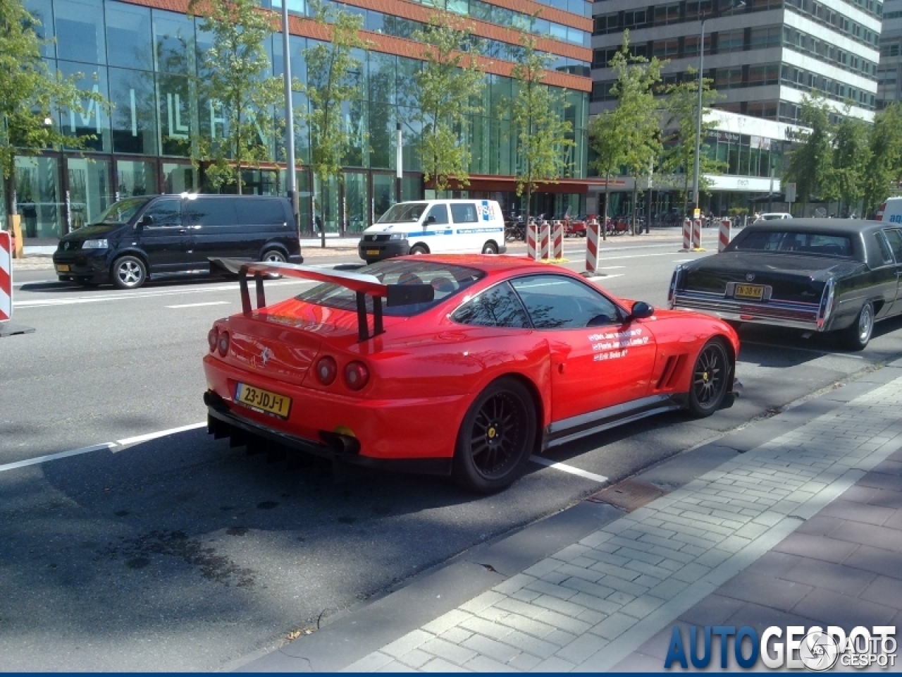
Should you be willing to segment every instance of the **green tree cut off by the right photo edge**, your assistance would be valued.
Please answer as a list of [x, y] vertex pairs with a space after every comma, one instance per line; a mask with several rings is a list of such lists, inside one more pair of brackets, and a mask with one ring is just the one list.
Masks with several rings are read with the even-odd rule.
[[874, 116], [869, 145], [862, 217], [873, 214], [889, 197], [890, 184], [902, 178], [902, 104], [891, 103]]

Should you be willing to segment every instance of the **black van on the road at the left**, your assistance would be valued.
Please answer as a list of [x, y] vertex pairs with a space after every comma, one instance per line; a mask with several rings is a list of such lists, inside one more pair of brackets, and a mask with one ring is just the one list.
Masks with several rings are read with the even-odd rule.
[[60, 239], [62, 281], [136, 289], [149, 277], [209, 271], [211, 256], [303, 263], [291, 205], [257, 195], [148, 195], [115, 202]]

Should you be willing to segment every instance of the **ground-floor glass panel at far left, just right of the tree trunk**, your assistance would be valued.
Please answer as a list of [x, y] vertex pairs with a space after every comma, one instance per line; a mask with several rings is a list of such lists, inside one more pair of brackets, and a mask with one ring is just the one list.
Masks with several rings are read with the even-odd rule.
[[23, 237], [62, 236], [60, 161], [51, 157], [15, 159], [15, 194]]

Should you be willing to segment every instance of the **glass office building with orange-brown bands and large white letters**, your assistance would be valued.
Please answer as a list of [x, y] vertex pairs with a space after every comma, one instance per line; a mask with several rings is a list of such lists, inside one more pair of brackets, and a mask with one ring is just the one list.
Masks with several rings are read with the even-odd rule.
[[[187, 0], [24, 0], [41, 21], [40, 31], [53, 38], [44, 56], [51, 68], [81, 73], [80, 87], [112, 102], [105, 110], [88, 103], [81, 113], [60, 111], [53, 125], [68, 134], [93, 134], [84, 152], [42, 153], [16, 159], [15, 209], [22, 215], [23, 235], [33, 242], [51, 240], [90, 223], [115, 199], [184, 190], [208, 191], [204, 166], [191, 162], [192, 140], [216, 138], [225, 120], [215, 101], [198, 96], [196, 78], [210, 37], [201, 20], [186, 14]], [[306, 79], [303, 51], [314, 42], [316, 26], [308, 20], [305, 0], [288, 0], [292, 75]], [[262, 0], [265, 9], [281, 13], [280, 0]], [[471, 180], [455, 195], [499, 199], [504, 209], [526, 209], [515, 195], [519, 159], [511, 133], [511, 69], [520, 55], [521, 30], [534, 32], [538, 49], [551, 57], [546, 82], [566, 89], [566, 118], [573, 124], [575, 146], [567, 153], [566, 178], [550, 184], [532, 211], [548, 213], [585, 209], [592, 183], [585, 176], [590, 79], [592, 4], [585, 0], [522, 0], [517, 11], [505, 0], [346, 0], [337, 4], [364, 18], [368, 51], [361, 62], [364, 97], [345, 106], [353, 147], [345, 158], [343, 181], [316, 186], [318, 214], [327, 232], [351, 234], [378, 218], [399, 197], [429, 194], [419, 159], [418, 102], [412, 88], [422, 61], [422, 46], [412, 40], [435, 7], [468, 17], [474, 26], [471, 51], [485, 70], [483, 112], [471, 116], [463, 140], [471, 150]], [[391, 13], [385, 11], [391, 8]], [[173, 11], [178, 10], [178, 11]], [[266, 49], [272, 74], [282, 74], [281, 33]], [[295, 111], [308, 106], [295, 93]], [[271, 115], [281, 116], [281, 110]], [[402, 125], [403, 179], [396, 194], [396, 125]], [[284, 145], [266, 139], [272, 160], [244, 172], [244, 191], [284, 194]], [[313, 178], [308, 170], [306, 129], [296, 132], [297, 176], [302, 230], [312, 227]], [[228, 187], [222, 189], [229, 190]], [[231, 190], [235, 190], [232, 187]], [[4, 196], [7, 204], [13, 196]], [[5, 210], [4, 210], [5, 211]]]

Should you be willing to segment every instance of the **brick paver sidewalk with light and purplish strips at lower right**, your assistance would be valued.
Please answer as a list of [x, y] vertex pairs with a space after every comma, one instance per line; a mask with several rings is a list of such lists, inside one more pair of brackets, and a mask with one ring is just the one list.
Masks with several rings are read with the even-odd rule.
[[[886, 460], [902, 447], [900, 412], [897, 378], [607, 524], [345, 670], [661, 670], [662, 634], [678, 619], [712, 625], [756, 599], [802, 625], [811, 624], [799, 619], [819, 618], [870, 626], [893, 617], [902, 625], [902, 463]], [[750, 569], [755, 562], [758, 569]], [[782, 579], [767, 584], [756, 576]], [[842, 589], [829, 589], [833, 580], [844, 581]], [[690, 620], [691, 609], [704, 604], [712, 617]], [[776, 624], [776, 611], [753, 613], [749, 624]], [[656, 635], [657, 644], [649, 642]]]

